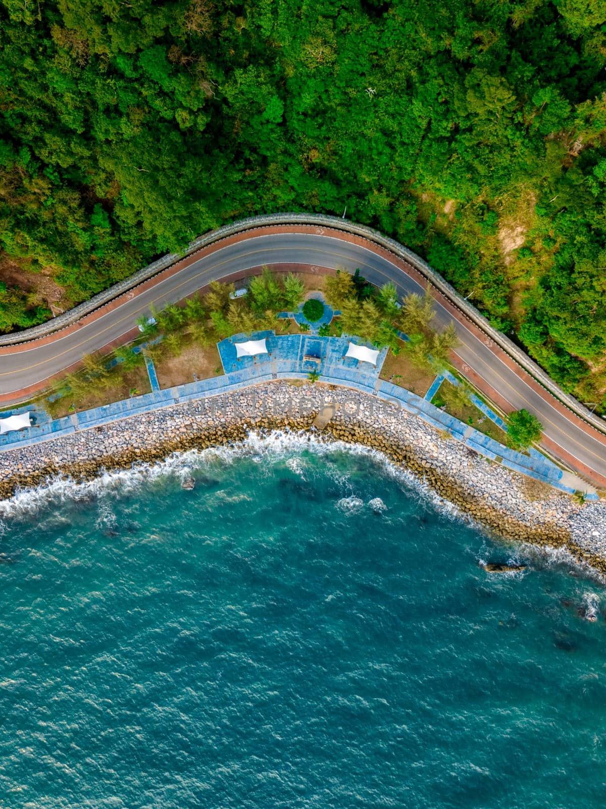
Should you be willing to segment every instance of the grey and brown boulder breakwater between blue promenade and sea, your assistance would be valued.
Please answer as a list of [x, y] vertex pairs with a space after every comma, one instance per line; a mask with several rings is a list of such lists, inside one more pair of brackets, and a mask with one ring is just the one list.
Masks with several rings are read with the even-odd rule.
[[265, 383], [0, 452], [0, 498], [53, 478], [90, 480], [99, 472], [153, 463], [175, 451], [236, 444], [251, 430], [313, 430], [333, 407], [320, 440], [382, 452], [440, 498], [511, 540], [566, 546], [606, 574], [606, 503], [580, 504], [548, 485], [490, 463], [419, 417], [348, 388]]

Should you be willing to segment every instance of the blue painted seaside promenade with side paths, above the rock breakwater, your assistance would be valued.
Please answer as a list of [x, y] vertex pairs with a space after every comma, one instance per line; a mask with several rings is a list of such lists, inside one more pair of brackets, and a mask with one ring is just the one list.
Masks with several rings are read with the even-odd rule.
[[[267, 340], [268, 354], [257, 357], [236, 358], [235, 343], [249, 339]], [[310, 371], [316, 371], [321, 382], [343, 385], [357, 391], [379, 396], [383, 400], [397, 404], [407, 413], [414, 413], [427, 424], [435, 426], [438, 430], [446, 430], [453, 438], [464, 443], [465, 446], [477, 451], [480, 455], [496, 461], [515, 472], [521, 472], [537, 481], [545, 481], [562, 491], [574, 493], [574, 489], [562, 483], [562, 469], [540, 452], [530, 451], [528, 455], [504, 447], [487, 435], [475, 430], [473, 427], [450, 416], [448, 413], [436, 408], [431, 401], [414, 393], [400, 388], [398, 385], [380, 379], [381, 366], [385, 361], [386, 350], [379, 355], [377, 366], [368, 362], [359, 362], [356, 359], [345, 358], [349, 341], [363, 345], [358, 337], [318, 337], [312, 334], [292, 334], [276, 336], [275, 332], [255, 332], [253, 335], [234, 335], [218, 344], [221, 362], [225, 375], [211, 379], [200, 379], [196, 382], [179, 385], [175, 388], [161, 390], [158, 385], [158, 376], [151, 359], [146, 358], [149, 379], [152, 383], [152, 392], [143, 396], [133, 396], [131, 399], [105, 404], [103, 407], [86, 410], [82, 413], [72, 413], [68, 417], [51, 420], [43, 410], [32, 411], [36, 417], [36, 425], [28, 430], [9, 433], [0, 437], [0, 451], [5, 449], [18, 449], [27, 447], [49, 438], [58, 438], [74, 433], [77, 430], [86, 430], [92, 427], [109, 424], [129, 416], [142, 415], [158, 410], [178, 402], [187, 402], [204, 399], [208, 396], [217, 396], [222, 393], [248, 388], [250, 385], [270, 382], [273, 379], [308, 379]], [[149, 364], [148, 364], [149, 363]], [[445, 373], [448, 381], [458, 380]], [[452, 378], [451, 378], [452, 377]], [[154, 381], [152, 381], [154, 379]], [[440, 379], [440, 377], [438, 378]], [[437, 383], [438, 379], [431, 386]], [[441, 383], [442, 379], [440, 379]], [[436, 390], [439, 385], [436, 387]], [[474, 397], [474, 399], [477, 397]], [[494, 417], [495, 423], [504, 424], [495, 413], [490, 411], [481, 400], [477, 404], [482, 412]], [[16, 408], [2, 413], [2, 416], [23, 412], [32, 408]], [[486, 411], [490, 411], [487, 413]], [[499, 421], [497, 421], [499, 420]], [[597, 496], [590, 495], [590, 499]]]

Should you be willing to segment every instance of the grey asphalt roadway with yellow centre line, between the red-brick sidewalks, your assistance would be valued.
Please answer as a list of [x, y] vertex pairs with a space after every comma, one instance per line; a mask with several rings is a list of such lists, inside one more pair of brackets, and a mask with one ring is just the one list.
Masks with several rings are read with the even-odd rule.
[[[84, 354], [103, 348], [133, 329], [137, 317], [149, 311], [154, 303], [164, 304], [183, 299], [209, 282], [259, 265], [302, 264], [330, 269], [343, 268], [354, 272], [360, 268], [368, 281], [381, 285], [392, 281], [400, 294], [423, 293], [414, 278], [371, 248], [339, 239], [337, 235], [309, 233], [271, 233], [253, 235], [215, 252], [201, 256], [170, 277], [155, 283], [128, 298], [120, 306], [73, 332], [58, 332], [52, 341], [31, 348], [17, 347], [0, 356], [0, 395], [19, 392], [63, 371], [78, 362]], [[436, 305], [436, 320], [448, 324], [452, 315]], [[537, 392], [516, 371], [495, 356], [490, 340], [478, 338], [465, 323], [457, 321], [461, 341], [457, 354], [475, 374], [499, 392], [511, 409], [526, 408], [541, 419], [544, 434], [550, 442], [571, 455], [606, 481], [606, 438], [591, 427], [581, 427], [562, 413], [555, 400], [546, 392]], [[22, 396], [21, 396], [22, 398]], [[571, 414], [570, 414], [571, 415]], [[593, 476], [592, 476], [593, 477]]]

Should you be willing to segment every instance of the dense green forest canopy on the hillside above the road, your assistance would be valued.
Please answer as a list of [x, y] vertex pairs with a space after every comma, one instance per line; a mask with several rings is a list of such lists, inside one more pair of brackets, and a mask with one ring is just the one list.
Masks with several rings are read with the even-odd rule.
[[5, 0], [0, 38], [1, 246], [72, 302], [347, 205], [606, 409], [604, 0]]

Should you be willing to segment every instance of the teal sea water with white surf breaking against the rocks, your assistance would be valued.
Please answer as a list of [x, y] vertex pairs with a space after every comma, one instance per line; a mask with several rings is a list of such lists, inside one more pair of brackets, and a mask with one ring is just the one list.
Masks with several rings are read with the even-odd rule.
[[0, 515], [2, 809], [604, 806], [600, 582], [372, 452], [251, 438]]

